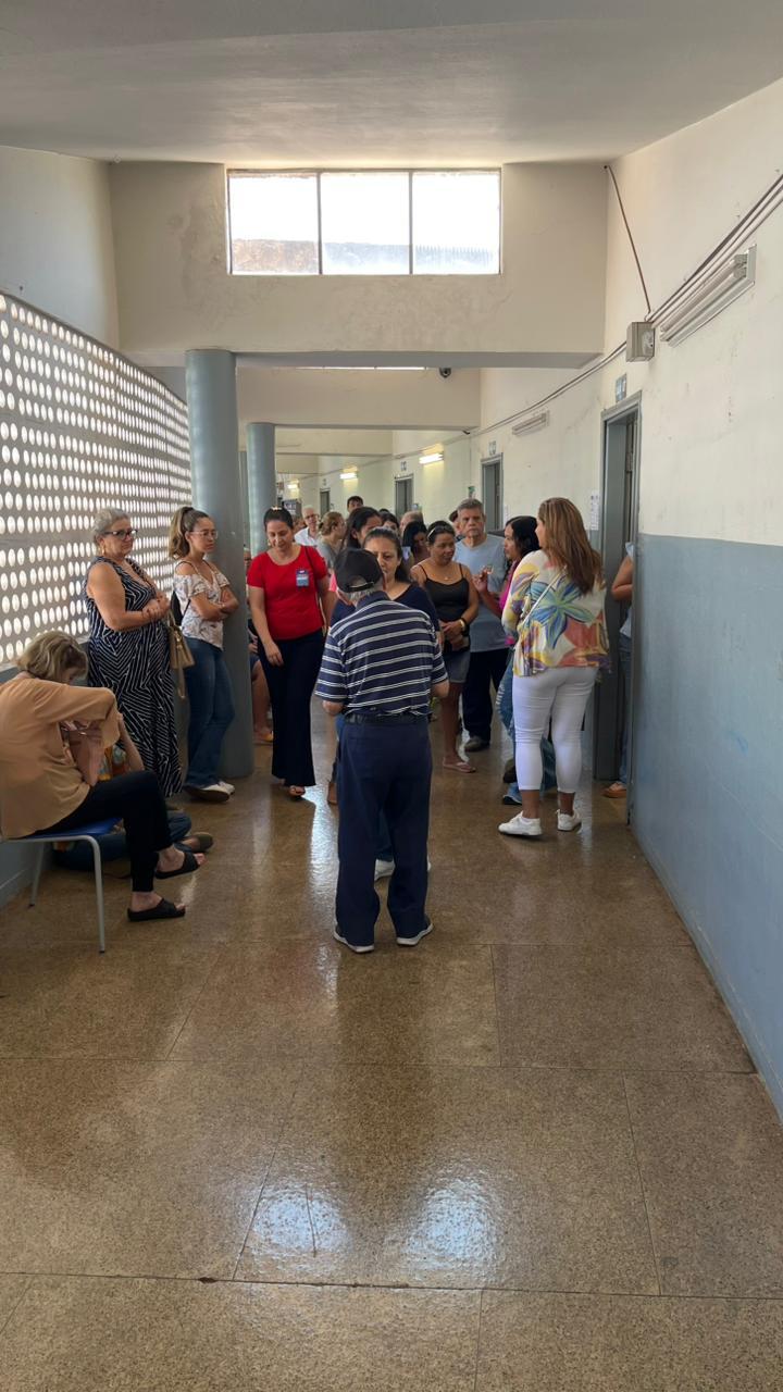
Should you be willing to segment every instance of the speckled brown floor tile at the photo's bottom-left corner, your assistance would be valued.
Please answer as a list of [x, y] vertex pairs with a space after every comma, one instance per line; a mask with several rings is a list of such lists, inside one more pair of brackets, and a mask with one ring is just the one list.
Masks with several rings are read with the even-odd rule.
[[0, 1392], [474, 1392], [479, 1293], [35, 1281]]

